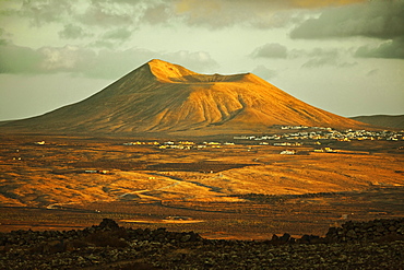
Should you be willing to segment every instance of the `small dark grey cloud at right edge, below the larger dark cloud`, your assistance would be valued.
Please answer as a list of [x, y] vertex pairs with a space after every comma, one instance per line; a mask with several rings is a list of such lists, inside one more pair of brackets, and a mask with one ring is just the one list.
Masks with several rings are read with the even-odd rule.
[[404, 59], [404, 38], [388, 40], [378, 47], [361, 46], [356, 50], [355, 56], [364, 58]]

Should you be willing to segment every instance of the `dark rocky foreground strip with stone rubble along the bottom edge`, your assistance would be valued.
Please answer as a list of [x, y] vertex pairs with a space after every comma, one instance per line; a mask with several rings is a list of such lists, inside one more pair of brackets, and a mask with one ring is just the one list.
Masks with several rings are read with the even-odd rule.
[[0, 269], [404, 269], [404, 219], [264, 242], [124, 228], [105, 219], [82, 231], [2, 233]]

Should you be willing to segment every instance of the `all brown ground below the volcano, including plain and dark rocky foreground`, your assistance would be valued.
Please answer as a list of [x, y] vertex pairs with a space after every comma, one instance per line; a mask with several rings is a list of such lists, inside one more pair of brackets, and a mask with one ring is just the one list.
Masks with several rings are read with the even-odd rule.
[[404, 268], [403, 141], [0, 141], [1, 269]]

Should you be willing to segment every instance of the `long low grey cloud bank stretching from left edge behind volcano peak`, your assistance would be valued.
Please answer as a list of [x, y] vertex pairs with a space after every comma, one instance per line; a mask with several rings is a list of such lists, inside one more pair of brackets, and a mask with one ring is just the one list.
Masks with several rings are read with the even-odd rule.
[[132, 48], [103, 49], [96, 52], [78, 46], [31, 49], [8, 44], [0, 46], [0, 73], [69, 72], [83, 77], [117, 79], [154, 58], [166, 59], [198, 71], [217, 66], [205, 51], [158, 52]]

